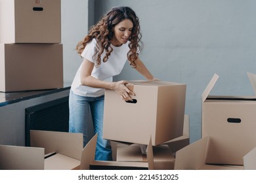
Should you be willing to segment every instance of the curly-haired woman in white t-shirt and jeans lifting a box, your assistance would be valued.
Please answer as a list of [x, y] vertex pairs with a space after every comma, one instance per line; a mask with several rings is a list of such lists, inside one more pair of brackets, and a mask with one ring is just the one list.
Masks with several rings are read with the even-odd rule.
[[98, 133], [96, 160], [112, 160], [110, 141], [102, 139], [104, 89], [114, 90], [124, 101], [135, 95], [121, 80], [112, 82], [128, 60], [147, 80], [154, 76], [139, 59], [139, 18], [129, 7], [115, 7], [107, 12], [93, 27], [85, 39], [76, 46], [83, 57], [70, 90], [70, 132], [83, 133], [83, 145], [87, 144], [89, 111], [93, 118], [94, 133]]

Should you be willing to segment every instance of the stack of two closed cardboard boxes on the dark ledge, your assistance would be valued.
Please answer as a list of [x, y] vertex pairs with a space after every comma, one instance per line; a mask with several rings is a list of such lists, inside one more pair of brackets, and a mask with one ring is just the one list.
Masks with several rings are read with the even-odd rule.
[[0, 0], [0, 92], [63, 87], [60, 0]]

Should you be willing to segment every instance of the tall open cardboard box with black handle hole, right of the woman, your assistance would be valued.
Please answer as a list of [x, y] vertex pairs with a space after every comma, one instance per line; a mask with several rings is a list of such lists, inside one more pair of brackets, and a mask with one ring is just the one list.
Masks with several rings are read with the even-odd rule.
[[[255, 82], [255, 75], [248, 76]], [[211, 137], [205, 161], [243, 165], [245, 154], [256, 146], [256, 97], [209, 96], [218, 78], [215, 74], [202, 94], [202, 137]]]

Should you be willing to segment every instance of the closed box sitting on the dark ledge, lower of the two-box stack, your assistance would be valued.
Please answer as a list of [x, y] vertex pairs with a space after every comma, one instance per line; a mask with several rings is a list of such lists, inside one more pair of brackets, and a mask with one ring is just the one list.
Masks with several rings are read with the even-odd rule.
[[0, 92], [62, 87], [62, 44], [0, 44]]

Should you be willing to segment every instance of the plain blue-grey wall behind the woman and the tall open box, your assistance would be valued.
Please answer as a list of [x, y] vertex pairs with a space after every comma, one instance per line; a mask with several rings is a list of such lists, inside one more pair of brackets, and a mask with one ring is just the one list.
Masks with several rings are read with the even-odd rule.
[[[133, 8], [140, 18], [140, 58], [161, 80], [187, 84], [190, 142], [201, 138], [201, 95], [253, 95], [246, 72], [256, 73], [256, 1], [95, 0], [95, 22], [111, 7]], [[129, 65], [116, 80], [142, 77]]]

